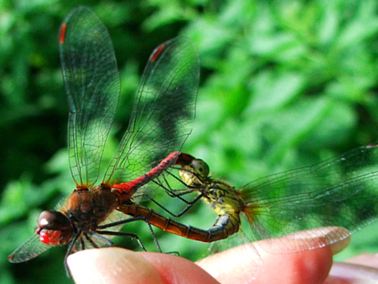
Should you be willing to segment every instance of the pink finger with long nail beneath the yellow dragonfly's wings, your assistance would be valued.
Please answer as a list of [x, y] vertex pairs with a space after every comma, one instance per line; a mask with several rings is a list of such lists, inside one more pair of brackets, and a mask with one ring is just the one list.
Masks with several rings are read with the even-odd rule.
[[[333, 227], [330, 228], [330, 234], [335, 234], [338, 230], [345, 231], [343, 228]], [[314, 237], [314, 234], [324, 230], [311, 231], [312, 238], [303, 241], [319, 244], [326, 238], [324, 235]], [[275, 242], [276, 247], [282, 247], [282, 254], [280, 251], [270, 254], [262, 250], [259, 244], [266, 247], [266, 243], [261, 241], [216, 254], [198, 261], [197, 264], [222, 283], [246, 283], [255, 278], [256, 283], [322, 283], [332, 265], [332, 255], [345, 248], [349, 240], [345, 239], [320, 249], [288, 253], [287, 248], [293, 247], [290, 242], [298, 243], [299, 238], [308, 235], [308, 232], [299, 232], [298, 235], [291, 234], [290, 238], [270, 240]], [[257, 251], [261, 257], [261, 266], [258, 268]]]

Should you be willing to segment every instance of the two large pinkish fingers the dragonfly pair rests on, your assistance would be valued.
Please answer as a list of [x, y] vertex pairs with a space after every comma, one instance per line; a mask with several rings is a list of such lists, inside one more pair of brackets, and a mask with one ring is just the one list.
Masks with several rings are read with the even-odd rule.
[[[272, 241], [280, 246], [291, 242], [286, 238]], [[75, 253], [69, 256], [68, 265], [76, 283], [323, 283], [333, 254], [348, 242], [349, 238], [319, 249], [281, 254], [267, 253], [260, 248], [261, 242], [255, 242], [196, 263], [169, 254], [113, 247]]]

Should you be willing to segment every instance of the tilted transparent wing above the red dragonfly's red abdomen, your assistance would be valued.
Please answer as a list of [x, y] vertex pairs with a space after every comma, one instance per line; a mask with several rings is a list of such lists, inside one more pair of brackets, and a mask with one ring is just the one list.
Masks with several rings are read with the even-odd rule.
[[143, 73], [127, 132], [104, 182], [133, 180], [170, 152], [181, 148], [191, 133], [199, 84], [199, 57], [194, 43], [174, 38], [157, 47]]

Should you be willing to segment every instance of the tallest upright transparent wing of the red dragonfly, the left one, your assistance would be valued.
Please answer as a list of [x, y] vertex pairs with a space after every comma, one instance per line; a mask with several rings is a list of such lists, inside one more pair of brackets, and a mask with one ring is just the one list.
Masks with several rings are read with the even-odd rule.
[[90, 187], [98, 177], [119, 99], [114, 48], [98, 16], [79, 7], [61, 24], [59, 51], [70, 110], [71, 174], [78, 187]]

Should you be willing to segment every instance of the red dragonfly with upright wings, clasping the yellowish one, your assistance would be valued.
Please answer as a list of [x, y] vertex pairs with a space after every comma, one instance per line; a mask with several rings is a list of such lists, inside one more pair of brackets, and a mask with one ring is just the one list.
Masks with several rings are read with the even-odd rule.
[[9, 256], [10, 262], [27, 261], [54, 245], [69, 244], [66, 259], [76, 250], [111, 246], [103, 235], [129, 236], [144, 248], [138, 236], [106, 229], [145, 219], [120, 214], [123, 220], [115, 220], [112, 215], [140, 187], [175, 163], [178, 153], [173, 151], [180, 149], [191, 132], [187, 124], [194, 119], [199, 57], [191, 40], [175, 38], [150, 55], [129, 127], [102, 182], [95, 186], [120, 94], [114, 48], [98, 16], [79, 7], [60, 26], [59, 52], [69, 105], [69, 162], [76, 188], [64, 205], [40, 214], [36, 235]]

